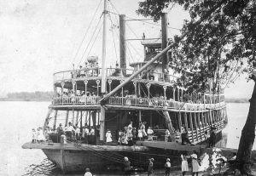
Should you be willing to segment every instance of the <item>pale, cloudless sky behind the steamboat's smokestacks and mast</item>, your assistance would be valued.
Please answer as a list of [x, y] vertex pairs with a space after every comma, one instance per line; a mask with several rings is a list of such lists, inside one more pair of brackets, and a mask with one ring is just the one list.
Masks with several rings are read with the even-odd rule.
[[[52, 91], [54, 72], [70, 70], [73, 63], [75, 67], [83, 65], [90, 55], [101, 58], [102, 33], [100, 31], [97, 37], [93, 35], [101, 29], [100, 2], [101, 0], [0, 1], [0, 97], [11, 92]], [[138, 2], [139, 0], [111, 0], [109, 10], [125, 14], [127, 20], [144, 19], [135, 12]], [[98, 5], [99, 10], [94, 16]], [[180, 29], [183, 20], [188, 19], [189, 15], [175, 6], [169, 11], [168, 17], [169, 27]], [[99, 20], [99, 26], [96, 27]], [[109, 66], [115, 65], [119, 58], [116, 33], [118, 16], [111, 14], [111, 19], [108, 17], [108, 20]], [[127, 38], [141, 38], [143, 32], [146, 37], [159, 37], [160, 24], [148, 22], [153, 23], [150, 20], [127, 21]], [[179, 33], [171, 28], [168, 32], [170, 37]], [[91, 41], [96, 41], [93, 46]], [[127, 46], [128, 63], [143, 60], [143, 47], [138, 41], [130, 41]], [[230, 88], [226, 88], [227, 97], [250, 97], [253, 82], [246, 82], [245, 77], [242, 76]]]

